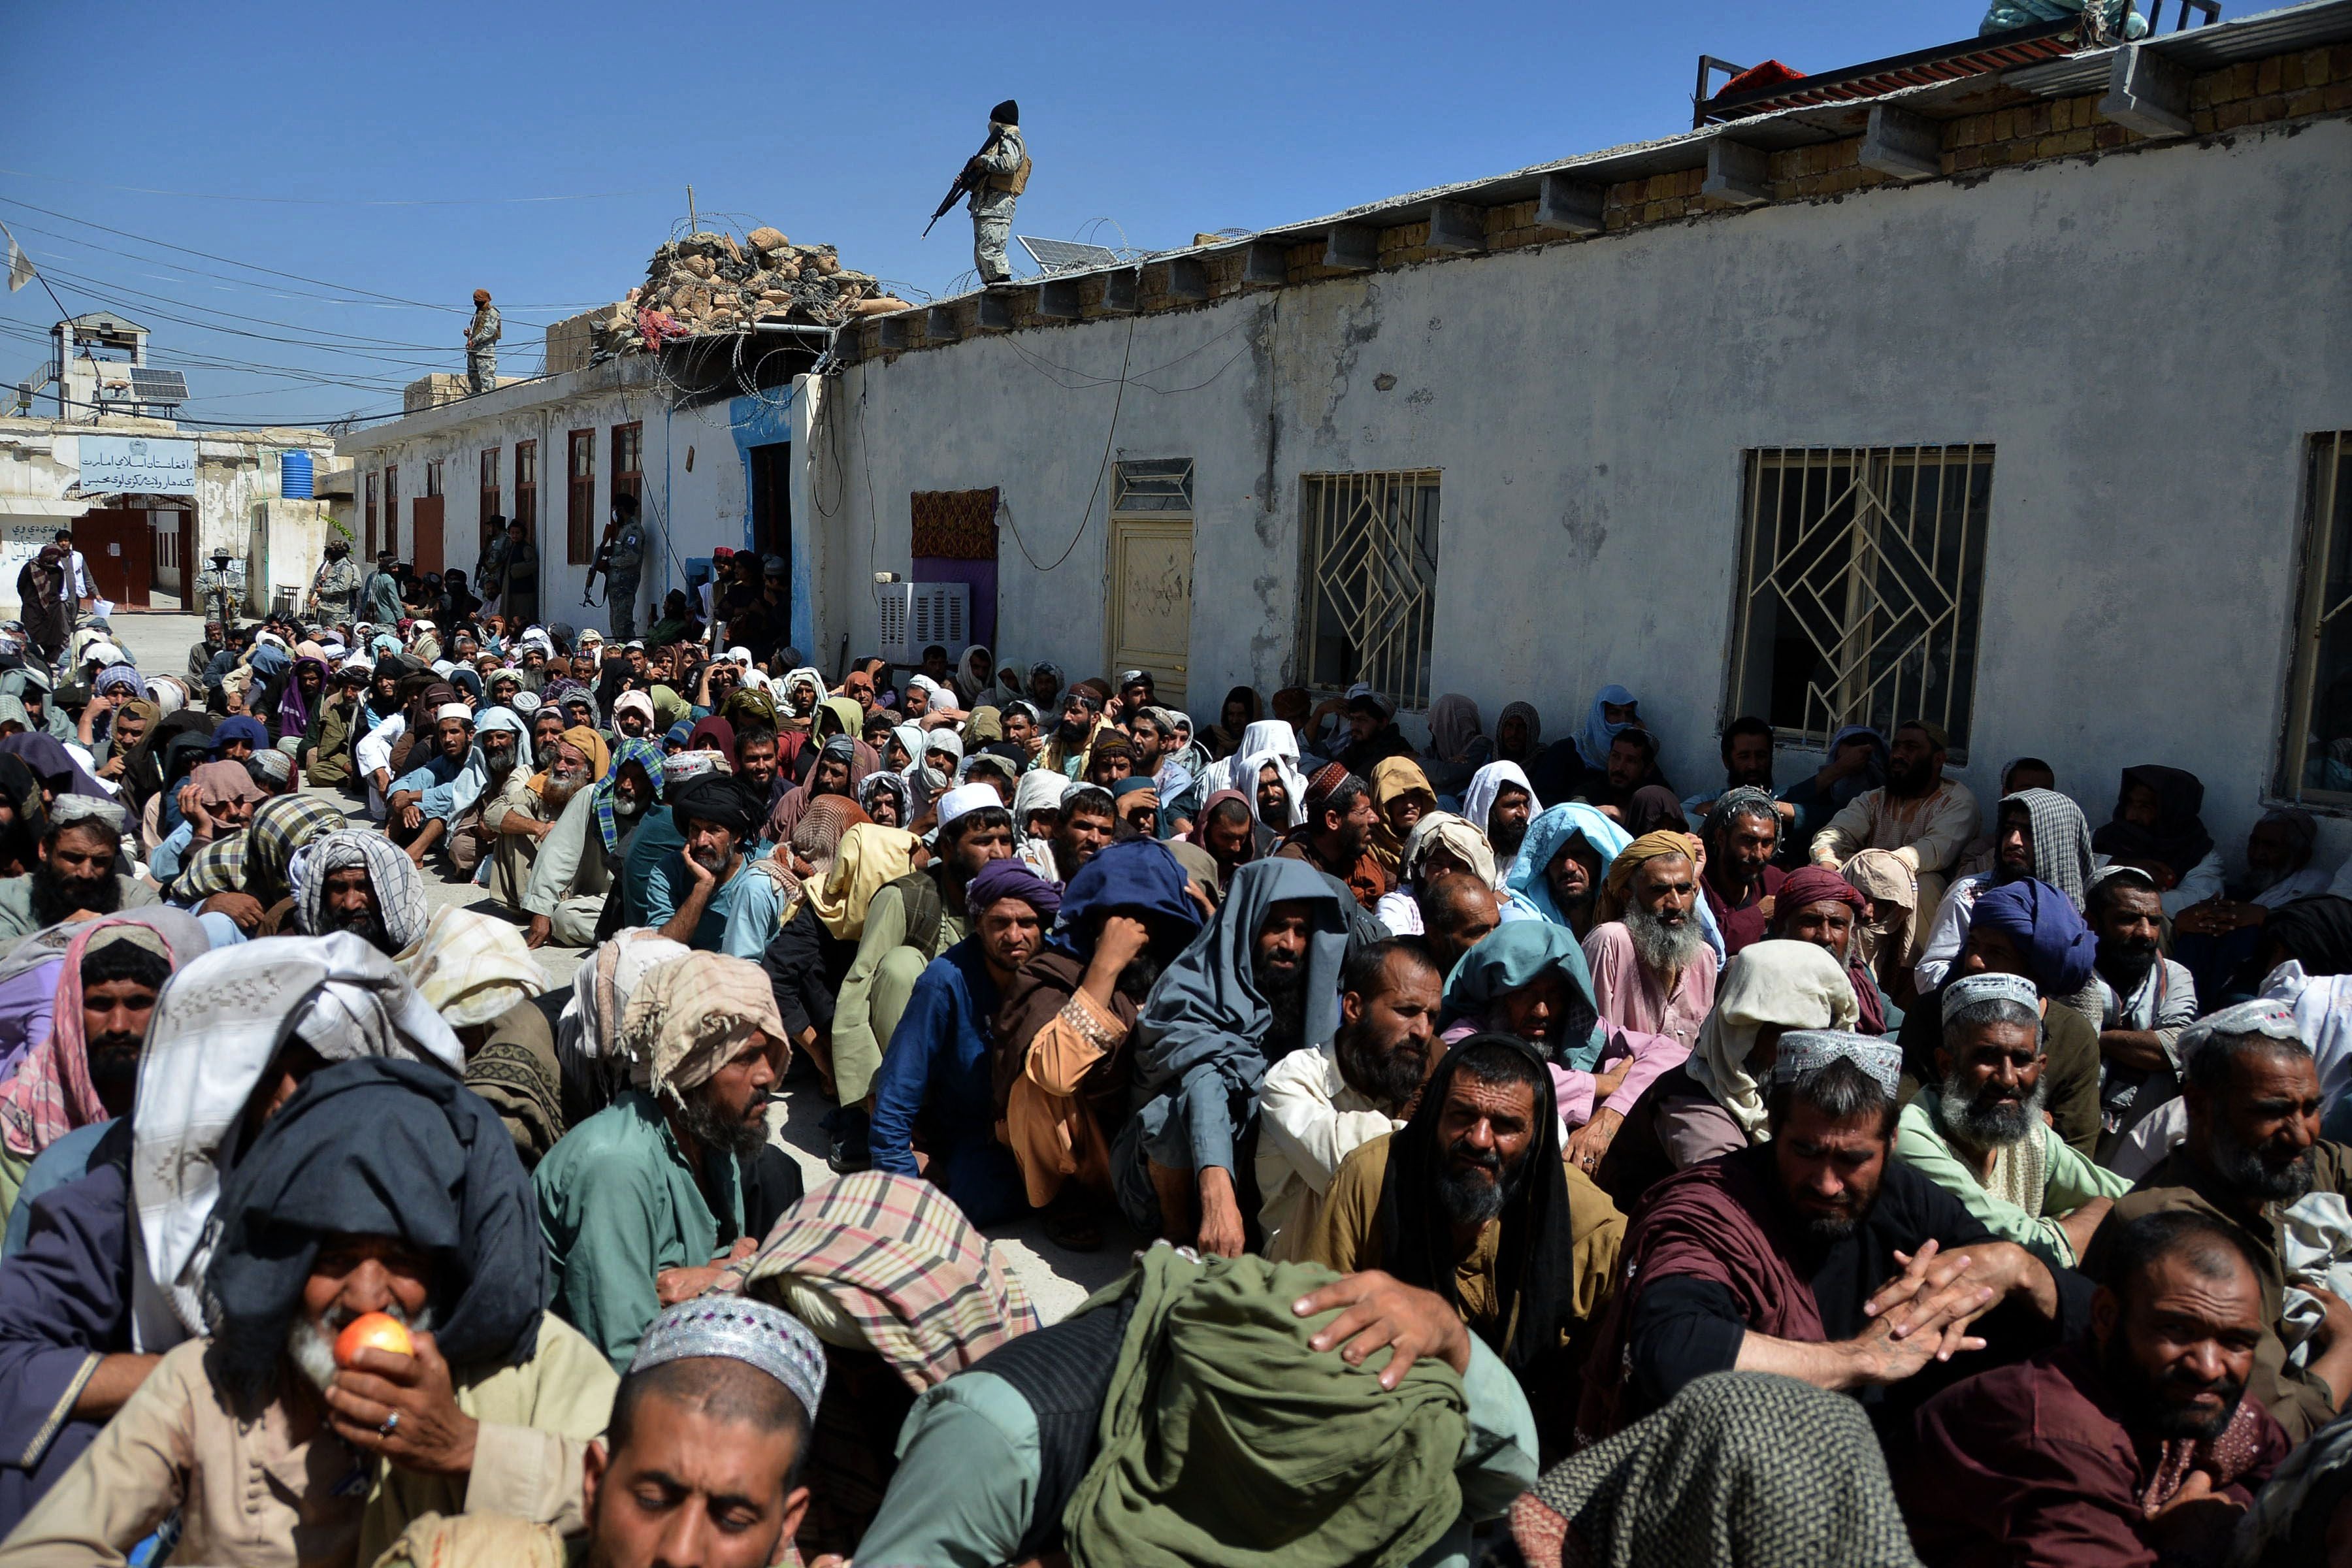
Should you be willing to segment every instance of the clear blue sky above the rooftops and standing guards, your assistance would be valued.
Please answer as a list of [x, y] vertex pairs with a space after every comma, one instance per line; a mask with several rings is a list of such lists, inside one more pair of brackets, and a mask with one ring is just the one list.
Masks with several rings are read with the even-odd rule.
[[[917, 299], [950, 292], [969, 221], [917, 233], [1004, 96], [1037, 162], [1016, 230], [1150, 249], [1686, 129], [1700, 52], [1823, 71], [1980, 16], [0, 0], [0, 221], [68, 310], [153, 327], [188, 416], [325, 421], [461, 369], [475, 287], [506, 315], [501, 371], [536, 371], [539, 327], [642, 282], [687, 183], [736, 233], [774, 223]], [[33, 374], [54, 315], [40, 287], [0, 294], [0, 383]]]

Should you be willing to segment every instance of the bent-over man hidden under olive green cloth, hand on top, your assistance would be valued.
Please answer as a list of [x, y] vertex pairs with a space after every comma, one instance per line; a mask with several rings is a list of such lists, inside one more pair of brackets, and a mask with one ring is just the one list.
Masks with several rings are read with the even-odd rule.
[[917, 1401], [858, 1561], [1458, 1563], [1534, 1465], [1524, 1394], [1435, 1293], [1155, 1246]]

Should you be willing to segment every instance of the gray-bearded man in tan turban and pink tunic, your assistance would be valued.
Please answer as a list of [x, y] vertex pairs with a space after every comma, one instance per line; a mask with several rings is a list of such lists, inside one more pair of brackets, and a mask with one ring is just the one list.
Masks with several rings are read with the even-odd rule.
[[1602, 924], [1585, 933], [1585, 961], [1602, 1023], [1672, 1034], [1689, 1048], [1715, 1009], [1715, 950], [1698, 924], [1698, 842], [1658, 830], [1621, 849], [1595, 914]]

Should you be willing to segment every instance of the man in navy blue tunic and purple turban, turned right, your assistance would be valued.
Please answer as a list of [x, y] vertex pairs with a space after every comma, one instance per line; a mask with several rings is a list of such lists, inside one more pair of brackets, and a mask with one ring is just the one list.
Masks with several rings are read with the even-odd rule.
[[[1061, 889], [1021, 860], [981, 863], [964, 889], [969, 936], [915, 980], [873, 1081], [875, 1168], [924, 1175], [974, 1225], [1028, 1211], [1021, 1168], [997, 1140], [990, 1020], [1058, 912]], [[917, 1131], [927, 1166], [915, 1164]]]

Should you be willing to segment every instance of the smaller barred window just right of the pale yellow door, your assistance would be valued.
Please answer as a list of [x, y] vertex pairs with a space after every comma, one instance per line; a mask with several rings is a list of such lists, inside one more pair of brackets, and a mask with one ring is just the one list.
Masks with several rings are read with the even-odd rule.
[[1437, 470], [1303, 480], [1308, 684], [1367, 682], [1399, 708], [1428, 708]]

